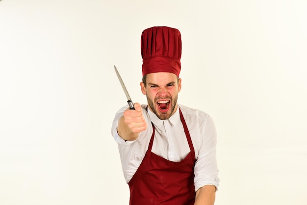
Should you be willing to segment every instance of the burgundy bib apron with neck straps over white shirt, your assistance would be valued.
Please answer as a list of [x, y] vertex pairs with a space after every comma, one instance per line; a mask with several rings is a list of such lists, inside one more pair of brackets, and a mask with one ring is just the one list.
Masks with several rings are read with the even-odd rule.
[[[180, 162], [152, 153], [153, 134], [148, 150], [128, 185], [130, 205], [194, 205], [195, 152], [191, 136], [179, 109], [190, 153]], [[153, 125], [153, 123], [152, 123]]]

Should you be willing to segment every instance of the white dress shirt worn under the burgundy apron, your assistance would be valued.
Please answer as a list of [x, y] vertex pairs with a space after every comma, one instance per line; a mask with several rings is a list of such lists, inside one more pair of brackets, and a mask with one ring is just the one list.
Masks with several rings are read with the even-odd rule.
[[[147, 129], [134, 141], [125, 141], [117, 133], [118, 120], [128, 108], [121, 108], [115, 115], [112, 135], [118, 143], [124, 177], [127, 183], [140, 166], [148, 149], [155, 127], [152, 152], [170, 161], [179, 162], [189, 154], [190, 148], [180, 121], [179, 109], [167, 120], [160, 120], [150, 109], [142, 104]], [[216, 129], [212, 118], [201, 110], [179, 105], [195, 150], [194, 185], [195, 191], [205, 185], [218, 188], [218, 168], [216, 160]]]

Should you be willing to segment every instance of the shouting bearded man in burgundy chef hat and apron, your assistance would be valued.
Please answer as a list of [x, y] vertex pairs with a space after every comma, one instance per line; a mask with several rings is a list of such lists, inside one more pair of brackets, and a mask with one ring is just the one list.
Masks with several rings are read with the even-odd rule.
[[140, 85], [148, 105], [123, 107], [112, 125], [130, 205], [213, 205], [219, 184], [216, 130], [208, 114], [177, 103], [179, 30], [145, 29], [141, 53]]

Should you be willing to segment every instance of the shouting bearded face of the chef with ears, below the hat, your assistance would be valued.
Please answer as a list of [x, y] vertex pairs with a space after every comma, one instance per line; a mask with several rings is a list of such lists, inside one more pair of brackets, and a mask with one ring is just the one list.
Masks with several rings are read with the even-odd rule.
[[161, 120], [170, 118], [177, 110], [181, 79], [173, 73], [151, 73], [146, 75], [146, 85], [140, 83], [147, 97], [149, 109]]

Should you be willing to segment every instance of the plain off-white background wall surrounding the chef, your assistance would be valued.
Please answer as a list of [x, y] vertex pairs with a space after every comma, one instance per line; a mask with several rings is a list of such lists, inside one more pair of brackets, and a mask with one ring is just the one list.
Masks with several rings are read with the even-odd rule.
[[306, 0], [0, 0], [0, 205], [128, 205], [110, 129], [141, 32], [182, 35], [179, 103], [218, 131], [215, 205], [307, 205]]

